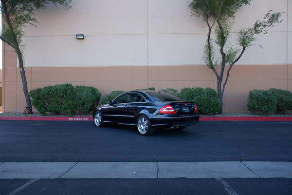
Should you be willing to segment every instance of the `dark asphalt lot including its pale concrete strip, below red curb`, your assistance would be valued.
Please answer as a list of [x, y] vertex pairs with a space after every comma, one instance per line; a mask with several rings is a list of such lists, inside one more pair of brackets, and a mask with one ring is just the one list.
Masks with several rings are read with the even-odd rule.
[[2, 120], [0, 194], [291, 195], [291, 126], [201, 121], [143, 137], [92, 121]]

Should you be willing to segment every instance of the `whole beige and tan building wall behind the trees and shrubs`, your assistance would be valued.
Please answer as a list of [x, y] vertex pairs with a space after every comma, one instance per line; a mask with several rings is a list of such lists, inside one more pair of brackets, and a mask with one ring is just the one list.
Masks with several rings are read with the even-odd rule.
[[[59, 83], [112, 90], [155, 87], [212, 87], [204, 65], [206, 25], [191, 17], [188, 0], [73, 0], [72, 9], [49, 6], [26, 27], [23, 43], [29, 90]], [[232, 34], [250, 27], [270, 9], [282, 23], [257, 37], [233, 67], [224, 93], [224, 112], [247, 111], [248, 92], [272, 87], [292, 91], [292, 3], [253, 0], [237, 12]], [[248, 14], [246, 14], [248, 13]], [[84, 34], [77, 40], [75, 34]], [[236, 45], [236, 37], [231, 44]], [[26, 103], [13, 49], [3, 45], [3, 111], [23, 112]], [[36, 110], [34, 110], [36, 112]]]

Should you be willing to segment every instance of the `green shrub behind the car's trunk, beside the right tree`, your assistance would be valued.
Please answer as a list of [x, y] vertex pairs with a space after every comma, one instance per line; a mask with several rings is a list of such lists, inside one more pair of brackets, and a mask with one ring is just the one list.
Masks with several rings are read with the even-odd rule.
[[180, 98], [186, 101], [193, 101], [198, 106], [198, 112], [200, 114], [216, 114], [220, 110], [220, 100], [216, 91], [212, 88], [203, 89], [197, 88], [183, 88]]

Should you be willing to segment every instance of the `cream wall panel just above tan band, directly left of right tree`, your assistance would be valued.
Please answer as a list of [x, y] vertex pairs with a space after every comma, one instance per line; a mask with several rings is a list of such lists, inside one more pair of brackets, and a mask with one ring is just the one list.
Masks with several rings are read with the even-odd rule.
[[201, 65], [206, 34], [149, 35], [149, 65]]

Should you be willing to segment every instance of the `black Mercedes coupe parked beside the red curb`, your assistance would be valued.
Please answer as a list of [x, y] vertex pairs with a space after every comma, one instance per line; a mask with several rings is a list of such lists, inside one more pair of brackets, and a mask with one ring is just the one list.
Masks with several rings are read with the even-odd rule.
[[163, 91], [131, 91], [93, 111], [97, 127], [105, 123], [135, 125], [143, 136], [156, 128], [182, 130], [199, 122], [197, 105]]

